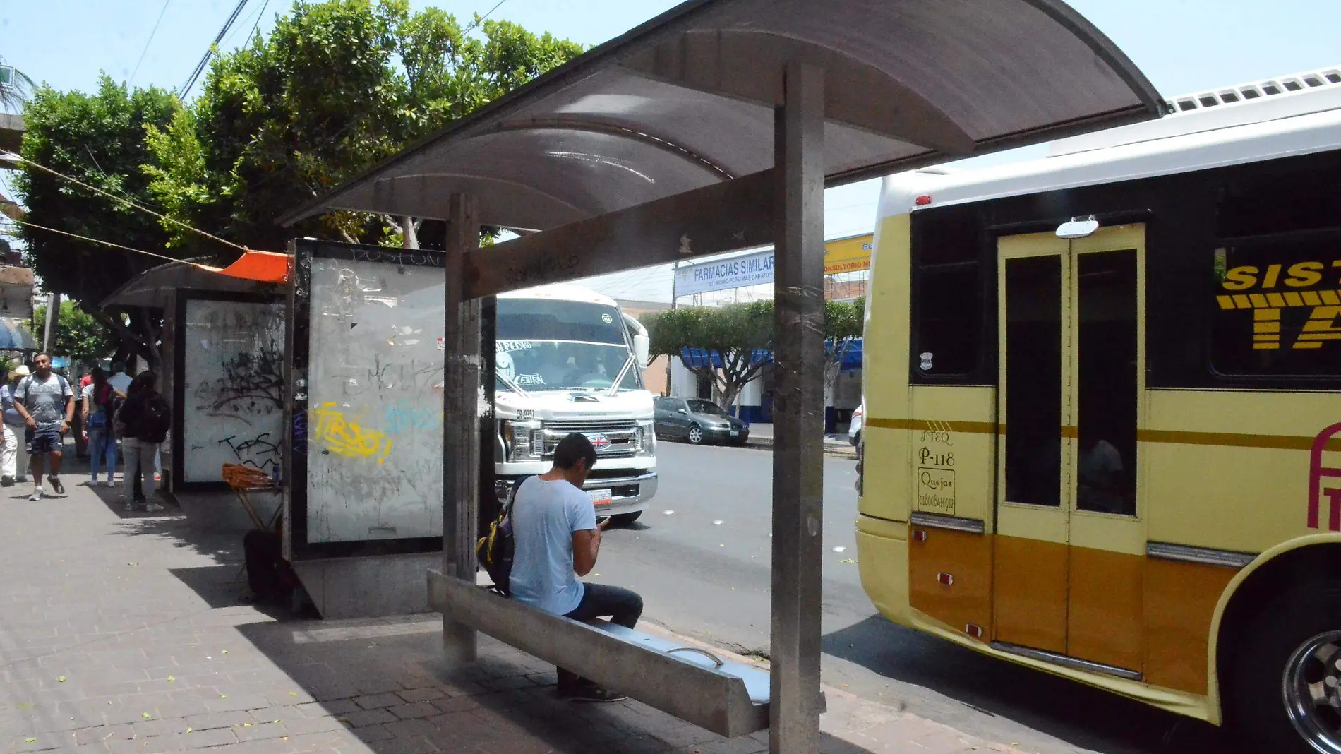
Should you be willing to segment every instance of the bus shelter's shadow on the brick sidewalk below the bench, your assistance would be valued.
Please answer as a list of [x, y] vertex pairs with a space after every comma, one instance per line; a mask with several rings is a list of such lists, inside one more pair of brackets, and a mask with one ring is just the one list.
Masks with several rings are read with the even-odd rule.
[[[479, 661], [451, 669], [436, 614], [252, 623], [237, 631], [378, 753], [767, 750], [767, 731], [724, 739], [633, 702], [562, 700], [552, 665], [485, 636]], [[825, 735], [821, 751], [868, 750]]]

